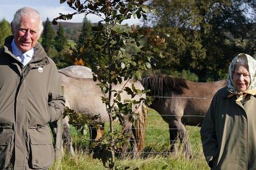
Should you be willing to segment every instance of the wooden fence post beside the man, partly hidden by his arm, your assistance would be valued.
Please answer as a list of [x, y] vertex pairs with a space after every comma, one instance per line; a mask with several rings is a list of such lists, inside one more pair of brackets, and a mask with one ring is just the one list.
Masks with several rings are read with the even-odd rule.
[[[61, 93], [64, 95], [64, 86], [61, 86]], [[56, 143], [55, 143], [55, 159], [61, 160], [63, 155], [62, 149], [62, 134], [63, 134], [63, 117], [61, 116], [60, 119], [57, 121], [57, 130], [56, 130]]]

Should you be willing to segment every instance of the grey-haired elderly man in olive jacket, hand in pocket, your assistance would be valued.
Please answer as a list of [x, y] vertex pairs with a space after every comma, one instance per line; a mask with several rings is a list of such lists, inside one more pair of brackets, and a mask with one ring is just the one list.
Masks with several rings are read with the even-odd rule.
[[57, 68], [39, 44], [38, 11], [16, 11], [0, 49], [0, 169], [47, 169], [54, 162], [48, 122], [64, 110]]

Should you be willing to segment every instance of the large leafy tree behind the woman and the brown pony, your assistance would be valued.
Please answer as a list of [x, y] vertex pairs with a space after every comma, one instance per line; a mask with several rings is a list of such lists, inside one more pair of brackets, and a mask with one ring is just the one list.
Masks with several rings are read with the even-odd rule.
[[237, 53], [256, 52], [255, 1], [155, 0], [151, 7], [158, 13], [147, 25], [171, 35], [156, 69], [191, 70], [200, 81], [223, 79]]

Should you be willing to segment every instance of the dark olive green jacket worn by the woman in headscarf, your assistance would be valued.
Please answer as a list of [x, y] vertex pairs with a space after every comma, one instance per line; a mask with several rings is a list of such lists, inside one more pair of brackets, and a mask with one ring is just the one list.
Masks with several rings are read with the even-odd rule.
[[213, 97], [200, 130], [205, 158], [213, 169], [256, 169], [255, 96], [241, 104], [226, 89]]

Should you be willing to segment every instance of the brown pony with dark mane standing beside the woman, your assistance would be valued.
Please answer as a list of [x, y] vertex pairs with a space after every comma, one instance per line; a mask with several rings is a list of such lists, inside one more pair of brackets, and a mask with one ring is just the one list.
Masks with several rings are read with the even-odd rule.
[[198, 83], [167, 75], [147, 76], [142, 80], [147, 95], [155, 100], [155, 109], [169, 124], [171, 152], [177, 151], [177, 139], [184, 144], [185, 154], [191, 156], [188, 135], [184, 125], [201, 126], [213, 95], [226, 86], [226, 80]]

